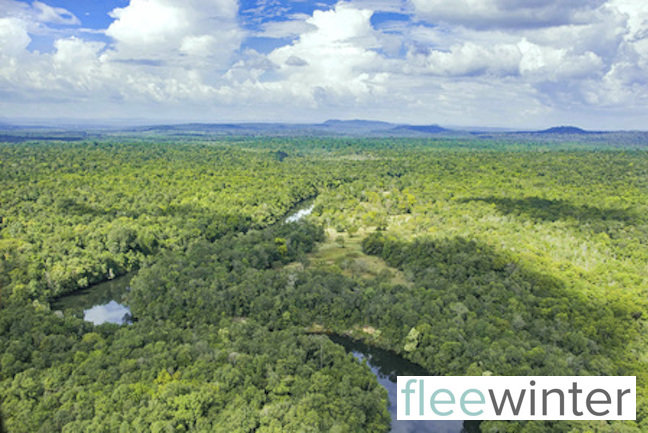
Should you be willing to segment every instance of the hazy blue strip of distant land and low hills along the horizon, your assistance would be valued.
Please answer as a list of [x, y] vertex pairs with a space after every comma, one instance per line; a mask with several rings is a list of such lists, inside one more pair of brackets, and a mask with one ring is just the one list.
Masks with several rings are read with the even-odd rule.
[[509, 142], [592, 143], [606, 146], [643, 147], [646, 131], [588, 131], [574, 126], [556, 126], [538, 131], [503, 128], [444, 128], [439, 125], [406, 125], [367, 120], [327, 120], [323, 123], [187, 123], [138, 127], [84, 126], [59, 127], [10, 125], [0, 123], [0, 138], [7, 142], [29, 140], [82, 140], [109, 137], [394, 137], [454, 138]]

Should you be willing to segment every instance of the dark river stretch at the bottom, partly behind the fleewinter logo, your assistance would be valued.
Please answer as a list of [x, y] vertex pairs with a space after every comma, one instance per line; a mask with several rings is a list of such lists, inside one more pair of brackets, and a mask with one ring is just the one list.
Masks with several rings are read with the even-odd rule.
[[377, 349], [340, 335], [331, 335], [329, 338], [351, 352], [358, 360], [366, 360], [367, 366], [376, 375], [378, 383], [387, 389], [392, 433], [469, 433], [479, 431], [475, 422], [398, 421], [396, 419], [397, 376], [428, 376], [429, 373], [423, 367], [401, 358], [394, 352]]

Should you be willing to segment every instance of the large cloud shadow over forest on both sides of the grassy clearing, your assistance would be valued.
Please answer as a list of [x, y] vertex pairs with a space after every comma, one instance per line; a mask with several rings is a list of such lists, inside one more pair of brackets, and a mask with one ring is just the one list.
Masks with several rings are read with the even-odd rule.
[[374, 233], [365, 253], [414, 284], [353, 279], [308, 266], [304, 253], [322, 236], [289, 224], [167, 252], [140, 271], [129, 305], [137, 317], [182, 323], [250, 317], [268, 329], [317, 323], [339, 333], [369, 325], [376, 343], [435, 374], [626, 373], [620, 360], [637, 335], [634, 305], [578, 292], [463, 238]]

